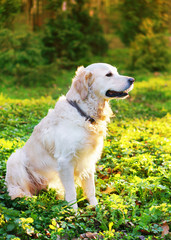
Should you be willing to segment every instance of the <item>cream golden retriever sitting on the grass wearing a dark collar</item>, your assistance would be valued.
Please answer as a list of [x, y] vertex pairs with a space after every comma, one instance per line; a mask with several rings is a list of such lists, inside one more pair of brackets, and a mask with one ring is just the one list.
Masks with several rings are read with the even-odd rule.
[[94, 172], [112, 114], [109, 100], [126, 98], [133, 83], [106, 63], [79, 67], [66, 96], [9, 157], [6, 183], [11, 199], [31, 197], [50, 186], [62, 189], [65, 200], [77, 208], [74, 182], [79, 179], [90, 205], [97, 205]]

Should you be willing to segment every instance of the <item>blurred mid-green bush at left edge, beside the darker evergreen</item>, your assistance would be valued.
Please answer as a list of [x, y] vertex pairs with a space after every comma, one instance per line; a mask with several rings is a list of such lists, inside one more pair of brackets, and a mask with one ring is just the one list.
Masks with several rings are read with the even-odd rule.
[[[51, 74], [48, 74], [51, 72]], [[0, 30], [0, 73], [12, 76], [16, 84], [46, 85], [54, 80], [55, 66], [44, 65], [41, 42], [32, 32], [17, 34]]]

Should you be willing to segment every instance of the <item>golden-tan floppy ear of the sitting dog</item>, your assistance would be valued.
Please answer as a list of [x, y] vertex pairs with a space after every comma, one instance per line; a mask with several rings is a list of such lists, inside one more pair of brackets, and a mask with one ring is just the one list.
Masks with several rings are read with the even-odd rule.
[[88, 96], [88, 87], [91, 86], [92, 83], [92, 73], [85, 70], [83, 66], [78, 67], [74, 78], [74, 86], [82, 100], [85, 100]]

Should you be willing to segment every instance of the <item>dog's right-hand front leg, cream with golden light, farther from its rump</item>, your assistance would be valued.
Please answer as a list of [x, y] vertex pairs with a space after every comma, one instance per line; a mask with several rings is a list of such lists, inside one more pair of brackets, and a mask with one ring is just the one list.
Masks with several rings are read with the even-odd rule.
[[81, 183], [84, 194], [87, 196], [90, 205], [96, 206], [98, 202], [95, 197], [94, 173], [91, 173], [89, 176], [83, 178]]

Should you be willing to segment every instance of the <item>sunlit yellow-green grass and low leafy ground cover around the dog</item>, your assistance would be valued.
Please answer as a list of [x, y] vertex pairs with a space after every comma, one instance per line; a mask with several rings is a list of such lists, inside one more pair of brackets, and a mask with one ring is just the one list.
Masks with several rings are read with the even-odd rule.
[[77, 214], [53, 190], [10, 200], [6, 161], [66, 93], [71, 75], [64, 73], [63, 85], [59, 81], [50, 89], [1, 88], [0, 239], [79, 239], [86, 232], [97, 232], [99, 239], [170, 239], [164, 231], [171, 229], [170, 76], [142, 76], [129, 99], [111, 102], [116, 116], [97, 164], [95, 209], [87, 206], [80, 188]]

